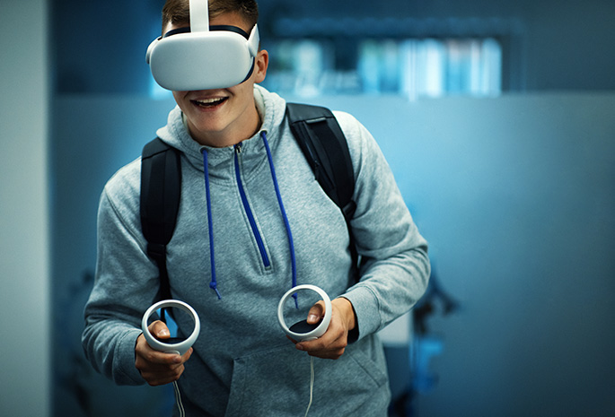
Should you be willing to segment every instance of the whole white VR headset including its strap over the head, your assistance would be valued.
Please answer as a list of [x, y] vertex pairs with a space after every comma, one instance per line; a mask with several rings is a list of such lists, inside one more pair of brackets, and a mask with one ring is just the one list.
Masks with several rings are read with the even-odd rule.
[[254, 70], [259, 29], [209, 26], [207, 0], [190, 0], [190, 27], [171, 30], [147, 48], [154, 80], [171, 91], [213, 90], [243, 83]]

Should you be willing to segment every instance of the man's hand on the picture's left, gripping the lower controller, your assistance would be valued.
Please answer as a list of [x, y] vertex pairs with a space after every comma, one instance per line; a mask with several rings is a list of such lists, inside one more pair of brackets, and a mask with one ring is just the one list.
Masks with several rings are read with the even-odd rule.
[[[171, 337], [169, 328], [160, 320], [154, 321], [147, 327], [151, 334], [158, 339]], [[176, 353], [155, 351], [145, 341], [143, 334], [136, 339], [135, 367], [141, 376], [152, 387], [169, 384], [180, 378], [184, 371], [184, 363], [189, 360], [192, 348], [180, 356]]]

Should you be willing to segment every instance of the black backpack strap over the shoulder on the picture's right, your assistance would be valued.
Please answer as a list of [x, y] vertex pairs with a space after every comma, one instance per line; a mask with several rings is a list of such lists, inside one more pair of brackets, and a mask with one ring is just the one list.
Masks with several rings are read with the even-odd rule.
[[356, 209], [352, 199], [355, 176], [346, 136], [329, 109], [287, 103], [286, 115], [291, 131], [312, 167], [314, 176], [344, 214], [350, 236], [350, 251], [354, 265], [357, 265], [358, 256], [350, 228], [350, 220]]

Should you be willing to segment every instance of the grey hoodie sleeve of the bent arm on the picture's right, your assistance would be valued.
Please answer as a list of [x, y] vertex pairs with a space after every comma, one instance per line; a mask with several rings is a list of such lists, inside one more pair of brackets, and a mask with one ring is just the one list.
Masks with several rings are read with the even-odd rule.
[[418, 232], [373, 136], [347, 113], [336, 112], [355, 170], [356, 212], [350, 222], [363, 264], [343, 297], [356, 312], [358, 337], [408, 312], [426, 291], [427, 242]]

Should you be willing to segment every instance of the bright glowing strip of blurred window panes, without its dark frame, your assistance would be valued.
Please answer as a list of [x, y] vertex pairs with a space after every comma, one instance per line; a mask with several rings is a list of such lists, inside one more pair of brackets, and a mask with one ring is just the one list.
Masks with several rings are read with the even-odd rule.
[[[263, 83], [272, 91], [319, 94], [495, 96], [502, 91], [502, 48], [494, 38], [359, 39], [356, 53], [338, 58], [330, 39], [279, 39], [268, 43]], [[339, 43], [338, 43], [339, 44]], [[353, 48], [352, 42], [341, 44]]]

